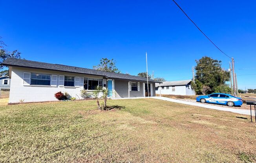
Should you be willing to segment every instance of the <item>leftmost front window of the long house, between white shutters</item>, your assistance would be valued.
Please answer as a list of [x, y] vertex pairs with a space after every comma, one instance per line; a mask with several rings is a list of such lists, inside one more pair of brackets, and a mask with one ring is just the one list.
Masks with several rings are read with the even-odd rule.
[[31, 85], [51, 85], [51, 75], [31, 73]]

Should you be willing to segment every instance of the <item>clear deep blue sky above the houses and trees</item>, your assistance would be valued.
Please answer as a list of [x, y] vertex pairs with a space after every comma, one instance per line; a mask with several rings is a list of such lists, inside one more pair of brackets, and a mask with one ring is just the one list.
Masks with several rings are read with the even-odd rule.
[[[216, 45], [235, 58], [239, 88], [256, 88], [256, 1], [176, 0]], [[171, 0], [3, 1], [0, 36], [27, 60], [92, 68], [114, 58], [123, 73], [192, 78], [195, 60], [220, 53]], [[248, 75], [254, 74], [254, 75]]]

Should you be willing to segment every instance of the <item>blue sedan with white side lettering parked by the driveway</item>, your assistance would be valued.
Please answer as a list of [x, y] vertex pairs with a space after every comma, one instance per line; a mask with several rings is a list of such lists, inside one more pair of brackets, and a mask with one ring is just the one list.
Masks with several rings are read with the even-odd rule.
[[224, 93], [213, 93], [209, 95], [198, 96], [196, 101], [201, 103], [218, 103], [228, 105], [229, 107], [241, 106], [243, 104], [241, 98]]

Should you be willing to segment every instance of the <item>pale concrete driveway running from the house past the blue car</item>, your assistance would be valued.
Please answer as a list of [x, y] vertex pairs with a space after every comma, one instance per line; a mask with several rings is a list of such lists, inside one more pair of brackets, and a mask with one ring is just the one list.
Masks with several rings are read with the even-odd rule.
[[[150, 97], [150, 98], [155, 98], [158, 100], [165, 100], [165, 101], [170, 101], [170, 102], [183, 103], [186, 105], [193, 105], [193, 106], [197, 106], [197, 107], [204, 107], [207, 109], [215, 109], [215, 110], [222, 110], [222, 111], [227, 111], [227, 112], [234, 112], [234, 113], [238, 113], [238, 114], [251, 115], [250, 110], [245, 110], [245, 109], [234, 109], [232, 107], [220, 107], [220, 106], [207, 105], [207, 104], [203, 104], [203, 103], [195, 103], [195, 102], [190, 102], [190, 101], [182, 101], [182, 100], [176, 100], [176, 99], [172, 99], [172, 98], [159, 97], [159, 96]], [[254, 109], [253, 109], [252, 115], [254, 115]]]

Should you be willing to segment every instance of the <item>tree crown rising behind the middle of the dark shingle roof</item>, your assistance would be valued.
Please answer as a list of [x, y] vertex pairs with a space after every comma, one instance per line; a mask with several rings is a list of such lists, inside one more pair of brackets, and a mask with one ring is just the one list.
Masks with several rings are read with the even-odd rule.
[[93, 69], [95, 70], [101, 70], [101, 71], [107, 71], [107, 72], [115, 72], [115, 73], [121, 73], [119, 69], [115, 66], [115, 60], [108, 58], [101, 58], [100, 64], [97, 66], [93, 66]]

